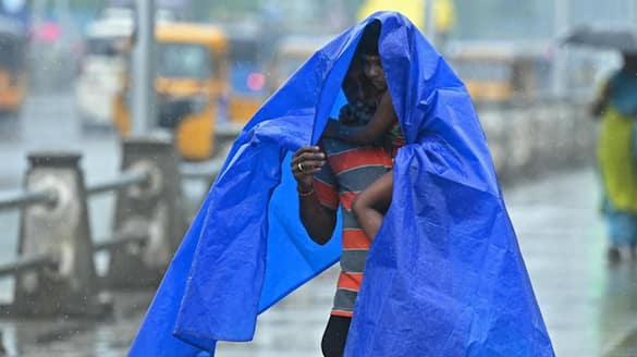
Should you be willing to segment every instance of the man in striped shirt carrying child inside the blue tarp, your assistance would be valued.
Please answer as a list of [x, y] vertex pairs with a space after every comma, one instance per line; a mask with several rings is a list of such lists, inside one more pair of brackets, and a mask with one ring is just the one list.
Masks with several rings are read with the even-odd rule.
[[[373, 238], [364, 231], [359, 223], [362, 217], [354, 212], [353, 205], [357, 196], [379, 178], [391, 177], [392, 157], [384, 136], [397, 121], [378, 58], [379, 32], [380, 24], [372, 23], [360, 39], [343, 82], [348, 103], [341, 109], [339, 122], [330, 121], [320, 147], [303, 147], [292, 158], [301, 218], [315, 242], [326, 244], [330, 239], [339, 205], [342, 208], [341, 273], [321, 343], [324, 356], [343, 355], [367, 251]], [[381, 122], [379, 114], [390, 125]], [[391, 183], [389, 193], [391, 197]], [[389, 206], [389, 201], [383, 206]]]

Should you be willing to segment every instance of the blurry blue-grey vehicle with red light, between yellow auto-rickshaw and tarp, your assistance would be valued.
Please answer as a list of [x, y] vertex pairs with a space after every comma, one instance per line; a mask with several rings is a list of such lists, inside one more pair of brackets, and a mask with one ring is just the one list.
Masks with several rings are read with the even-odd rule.
[[268, 97], [265, 34], [257, 28], [225, 28], [228, 33], [228, 124], [243, 126]]

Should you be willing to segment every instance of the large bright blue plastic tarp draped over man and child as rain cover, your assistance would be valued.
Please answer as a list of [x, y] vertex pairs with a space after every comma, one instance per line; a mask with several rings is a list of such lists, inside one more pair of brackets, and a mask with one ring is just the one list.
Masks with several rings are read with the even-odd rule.
[[345, 356], [554, 355], [465, 86], [406, 17], [379, 12], [317, 51], [245, 126], [130, 356], [212, 355], [217, 341], [249, 341], [258, 313], [338, 261], [340, 227], [319, 246], [299, 222], [289, 160], [319, 140], [373, 20], [407, 145]]

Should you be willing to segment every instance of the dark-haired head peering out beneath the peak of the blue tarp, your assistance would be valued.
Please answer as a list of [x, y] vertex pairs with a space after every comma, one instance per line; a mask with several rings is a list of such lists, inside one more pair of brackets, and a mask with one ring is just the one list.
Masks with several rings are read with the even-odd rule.
[[384, 90], [387, 89], [387, 79], [378, 50], [380, 27], [380, 21], [378, 20], [372, 21], [365, 27], [356, 53], [363, 62], [363, 71], [371, 85], [378, 90]]

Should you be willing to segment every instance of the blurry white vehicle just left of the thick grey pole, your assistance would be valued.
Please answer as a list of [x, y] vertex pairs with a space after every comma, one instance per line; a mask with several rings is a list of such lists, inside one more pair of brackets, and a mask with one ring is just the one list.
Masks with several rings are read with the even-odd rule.
[[83, 127], [112, 125], [113, 102], [124, 87], [133, 30], [131, 16], [108, 16], [88, 26], [75, 86]]

